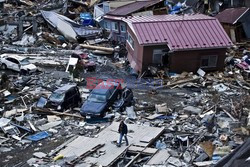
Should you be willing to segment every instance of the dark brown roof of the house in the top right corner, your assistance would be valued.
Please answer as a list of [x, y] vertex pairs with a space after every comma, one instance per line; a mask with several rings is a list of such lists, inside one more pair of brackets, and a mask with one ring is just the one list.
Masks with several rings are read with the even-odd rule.
[[246, 7], [229, 8], [229, 9], [223, 10], [222, 12], [217, 14], [215, 17], [221, 23], [235, 24], [247, 11], [249, 11], [249, 8], [246, 8]]

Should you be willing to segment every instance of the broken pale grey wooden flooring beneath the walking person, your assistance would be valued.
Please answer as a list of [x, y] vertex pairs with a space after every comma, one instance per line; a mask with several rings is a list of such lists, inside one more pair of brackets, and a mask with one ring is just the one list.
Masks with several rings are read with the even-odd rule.
[[[59, 152], [65, 158], [77, 159], [81, 155], [91, 151], [97, 145], [104, 144], [102, 148], [97, 150], [98, 156], [88, 156], [81, 160], [81, 163], [95, 164], [97, 166], [110, 166], [116, 161], [126, 150], [127, 146], [122, 145], [117, 147], [114, 141], [119, 139], [118, 130], [119, 123], [112, 123], [109, 127], [98, 134], [97, 138], [89, 138], [79, 136], [77, 139], [66, 145], [66, 147]], [[147, 147], [152, 144], [164, 131], [164, 128], [140, 126], [135, 124], [128, 124], [128, 129], [133, 131], [129, 133], [129, 144], [139, 147]], [[73, 158], [72, 158], [73, 157]]]

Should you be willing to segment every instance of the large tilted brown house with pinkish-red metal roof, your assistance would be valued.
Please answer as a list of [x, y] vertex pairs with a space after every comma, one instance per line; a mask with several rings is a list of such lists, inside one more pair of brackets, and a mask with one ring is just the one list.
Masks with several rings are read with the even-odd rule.
[[133, 16], [127, 23], [130, 66], [143, 73], [148, 66], [170, 72], [222, 70], [232, 41], [220, 22], [202, 14]]

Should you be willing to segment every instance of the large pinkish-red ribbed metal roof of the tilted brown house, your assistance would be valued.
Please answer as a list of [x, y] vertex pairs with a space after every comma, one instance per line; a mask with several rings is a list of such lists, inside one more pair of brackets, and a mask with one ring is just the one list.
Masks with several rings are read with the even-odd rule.
[[201, 14], [135, 16], [124, 21], [134, 31], [141, 45], [166, 43], [170, 50], [232, 46], [219, 21]]

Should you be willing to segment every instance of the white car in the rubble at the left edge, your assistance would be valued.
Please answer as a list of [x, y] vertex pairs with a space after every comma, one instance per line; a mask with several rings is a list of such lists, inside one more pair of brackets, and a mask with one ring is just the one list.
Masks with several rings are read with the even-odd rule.
[[2, 54], [0, 55], [1, 69], [14, 70], [21, 74], [30, 74], [37, 71], [37, 67], [30, 63], [28, 58], [17, 54]]

